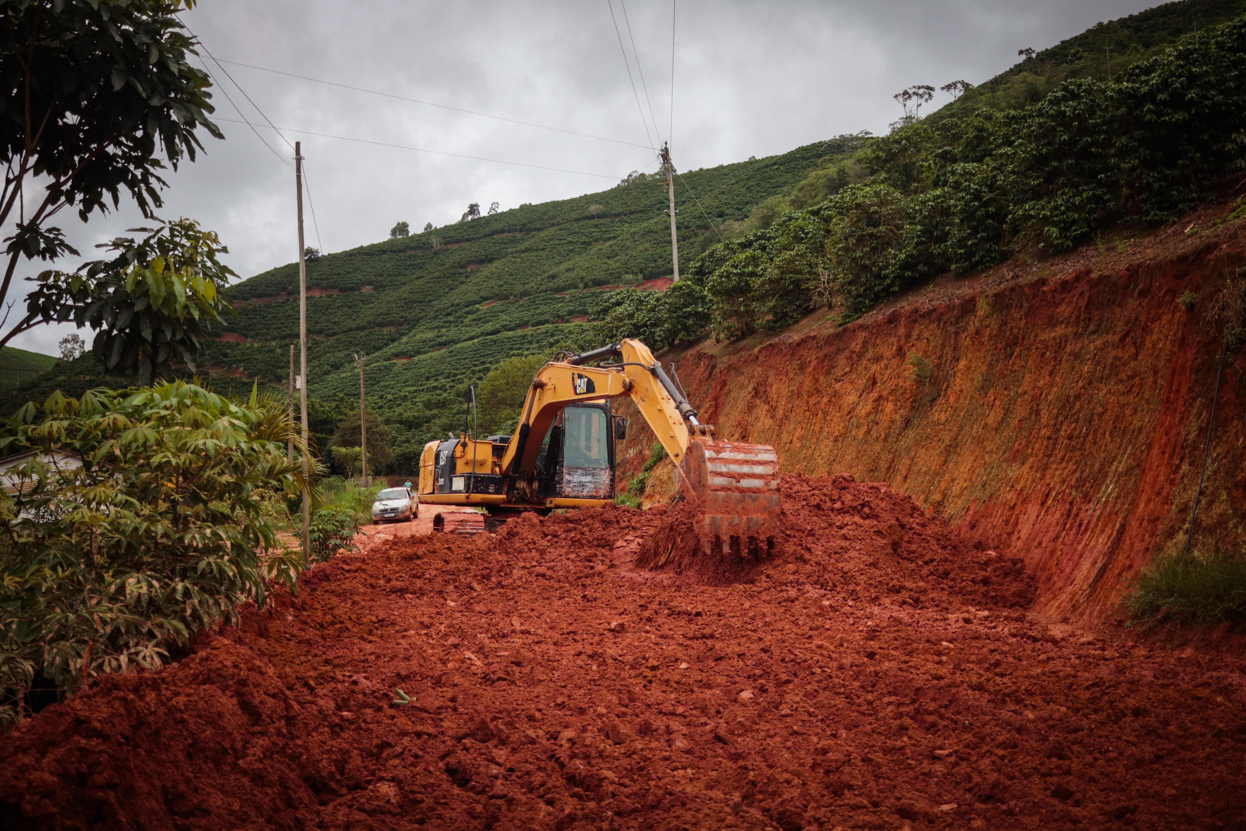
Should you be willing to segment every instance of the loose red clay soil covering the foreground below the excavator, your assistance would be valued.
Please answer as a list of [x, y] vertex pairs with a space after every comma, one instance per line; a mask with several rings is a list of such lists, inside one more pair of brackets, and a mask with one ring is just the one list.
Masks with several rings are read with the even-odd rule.
[[1049, 625], [885, 486], [782, 493], [726, 584], [635, 568], [664, 510], [373, 537], [4, 739], [0, 827], [1246, 827], [1241, 659]]

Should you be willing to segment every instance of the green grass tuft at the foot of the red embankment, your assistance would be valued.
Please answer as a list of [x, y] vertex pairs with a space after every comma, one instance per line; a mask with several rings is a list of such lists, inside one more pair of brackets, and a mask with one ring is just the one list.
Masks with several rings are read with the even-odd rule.
[[1125, 593], [1129, 624], [1209, 625], [1246, 618], [1246, 559], [1172, 552], [1134, 578]]

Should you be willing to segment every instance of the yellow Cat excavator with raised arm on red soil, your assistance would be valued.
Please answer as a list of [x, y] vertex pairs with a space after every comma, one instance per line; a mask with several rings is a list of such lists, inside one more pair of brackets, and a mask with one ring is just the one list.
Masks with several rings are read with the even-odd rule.
[[662, 364], [630, 339], [541, 368], [513, 435], [477, 439], [464, 431], [459, 439], [426, 444], [420, 502], [487, 513], [437, 513], [434, 528], [478, 533], [523, 511], [611, 502], [614, 449], [627, 436], [627, 421], [612, 412], [611, 400], [624, 396], [674, 462], [706, 552], [759, 559], [773, 552], [779, 515], [774, 447], [715, 441], [713, 426], [697, 420]]

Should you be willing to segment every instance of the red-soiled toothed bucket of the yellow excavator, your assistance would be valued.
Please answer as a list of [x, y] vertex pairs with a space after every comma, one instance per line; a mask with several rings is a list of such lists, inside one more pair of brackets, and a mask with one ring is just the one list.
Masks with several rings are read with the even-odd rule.
[[682, 470], [699, 503], [697, 536], [710, 554], [761, 559], [779, 533], [779, 455], [769, 445], [694, 439]]

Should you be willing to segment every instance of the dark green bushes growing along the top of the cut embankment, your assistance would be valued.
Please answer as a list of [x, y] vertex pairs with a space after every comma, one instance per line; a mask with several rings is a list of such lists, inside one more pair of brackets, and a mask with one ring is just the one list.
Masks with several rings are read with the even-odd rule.
[[[1166, 222], [1246, 168], [1244, 135], [1240, 19], [1113, 82], [1070, 80], [1025, 110], [925, 120], [870, 141], [856, 157], [868, 181], [701, 255], [688, 282], [704, 294], [687, 289], [685, 316], [708, 302], [720, 338], [781, 329], [821, 304], [846, 323], [946, 272], [1068, 250], [1121, 221]], [[665, 305], [655, 313], [679, 316]], [[658, 329], [644, 314], [604, 316], [612, 338]]]

